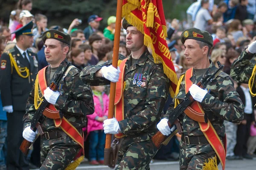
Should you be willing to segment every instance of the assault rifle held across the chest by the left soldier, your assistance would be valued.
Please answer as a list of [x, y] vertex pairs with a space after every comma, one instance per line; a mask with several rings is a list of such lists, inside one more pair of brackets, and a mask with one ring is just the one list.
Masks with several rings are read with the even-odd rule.
[[[67, 61], [66, 61], [67, 62]], [[56, 78], [54, 79], [54, 81], [52, 81], [52, 83], [49, 85], [49, 88], [52, 90], [52, 91], [57, 91], [58, 89], [58, 86], [61, 82], [61, 79], [63, 78], [65, 72], [67, 71], [67, 69], [69, 68], [70, 66], [70, 62], [67, 63], [67, 66], [65, 67], [64, 69], [64, 72], [61, 72], [59, 74], [57, 74]], [[39, 106], [39, 108], [37, 109], [37, 111], [35, 112], [35, 115], [34, 117], [32, 118], [31, 120], [31, 130], [33, 130], [34, 132], [36, 130], [38, 130], [38, 133], [40, 135], [44, 135], [44, 130], [41, 126], [41, 124], [44, 122], [44, 115], [43, 115], [43, 112], [44, 111], [47, 111], [45, 109], [47, 109], [47, 107], [49, 106], [49, 102], [47, 100], [45, 100], [45, 98], [43, 97], [43, 101], [41, 103], [41, 105]], [[58, 111], [59, 112], [59, 116], [60, 118], [63, 118], [63, 115], [62, 115], [62, 112], [61, 111]], [[35, 139], [36, 140], [36, 139]], [[34, 140], [34, 141], [35, 141]], [[29, 149], [30, 147], [32, 146], [32, 142], [30, 141], [27, 141], [26, 139], [23, 140], [22, 144], [20, 145], [20, 150], [21, 152], [27, 156], [28, 153], [29, 153]]]

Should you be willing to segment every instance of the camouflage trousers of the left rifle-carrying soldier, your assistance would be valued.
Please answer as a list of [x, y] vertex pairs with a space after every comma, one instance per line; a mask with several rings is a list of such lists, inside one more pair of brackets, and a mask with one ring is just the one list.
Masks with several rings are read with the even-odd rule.
[[80, 149], [80, 145], [69, 136], [52, 140], [41, 138], [40, 170], [64, 170]]

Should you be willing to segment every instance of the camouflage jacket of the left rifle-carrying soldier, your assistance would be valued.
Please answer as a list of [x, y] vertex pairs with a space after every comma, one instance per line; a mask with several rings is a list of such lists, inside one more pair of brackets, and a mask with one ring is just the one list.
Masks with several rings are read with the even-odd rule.
[[[67, 63], [63, 61], [58, 67], [56, 73], [63, 72], [66, 66]], [[56, 109], [61, 110], [63, 116], [76, 128], [85, 127], [86, 115], [93, 114], [94, 112], [92, 91], [90, 86], [81, 81], [79, 78], [79, 72], [79, 69], [72, 68], [65, 79], [61, 80], [59, 85], [60, 88], [58, 89], [58, 92], [60, 92], [61, 95], [58, 97], [55, 104]], [[49, 86], [49, 84], [55, 79], [56, 73], [53, 75], [52, 80], [50, 80], [50, 69], [49, 66], [47, 67], [47, 86]], [[26, 114], [23, 117], [24, 128], [31, 125], [31, 119], [36, 111], [34, 105], [34, 94], [35, 85], [29, 94], [26, 104]], [[40, 90], [39, 96], [42, 96]], [[42, 127], [46, 131], [54, 130], [55, 125], [53, 119], [45, 117]]]

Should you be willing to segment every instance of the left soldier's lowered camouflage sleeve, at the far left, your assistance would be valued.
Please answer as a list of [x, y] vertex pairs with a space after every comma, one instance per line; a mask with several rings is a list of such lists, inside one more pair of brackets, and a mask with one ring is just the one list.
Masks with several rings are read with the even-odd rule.
[[35, 115], [35, 105], [34, 105], [34, 94], [35, 94], [35, 84], [29, 94], [29, 98], [26, 104], [26, 114], [23, 116], [23, 129], [31, 126], [31, 120]]

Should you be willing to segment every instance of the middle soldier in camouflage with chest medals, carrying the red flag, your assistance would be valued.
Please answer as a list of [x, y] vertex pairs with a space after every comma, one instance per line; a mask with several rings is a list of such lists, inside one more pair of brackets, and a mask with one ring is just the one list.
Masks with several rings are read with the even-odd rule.
[[[119, 149], [116, 170], [149, 170], [151, 158], [157, 152], [151, 137], [156, 133], [157, 122], [163, 113], [169, 79], [163, 73], [163, 65], [155, 64], [143, 45], [144, 35], [126, 20], [123, 21], [123, 27], [127, 32], [126, 46], [131, 49], [131, 55], [125, 63], [124, 119], [107, 119], [103, 127], [105, 133], [125, 135]], [[106, 70], [112, 67], [108, 61], [102, 66], [89, 66], [82, 70], [80, 77], [93, 86], [109, 84], [104, 77], [107, 77]], [[145, 82], [145, 86], [134, 83], [134, 80], [139, 81], [134, 77], [136, 73], [144, 78], [141, 81]]]

